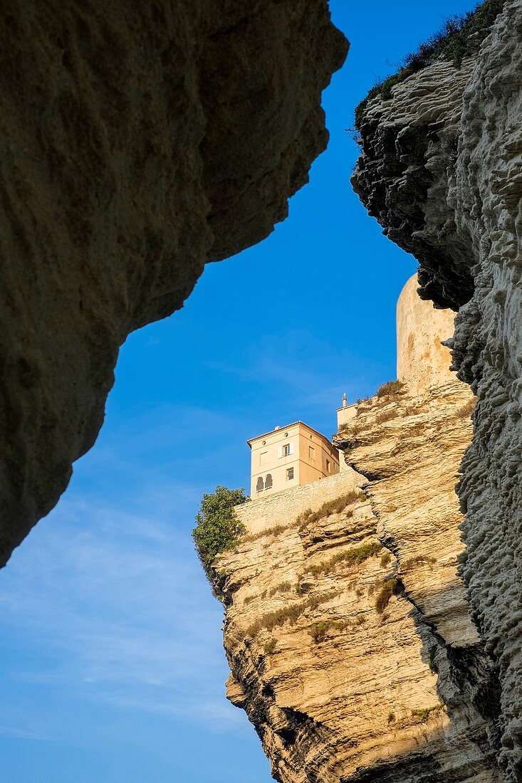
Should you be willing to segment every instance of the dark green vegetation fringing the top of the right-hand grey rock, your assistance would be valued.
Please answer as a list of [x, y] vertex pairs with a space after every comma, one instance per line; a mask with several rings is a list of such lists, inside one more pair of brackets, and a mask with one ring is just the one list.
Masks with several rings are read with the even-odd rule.
[[502, 11], [504, 0], [484, 0], [473, 11], [464, 16], [451, 16], [442, 29], [419, 46], [416, 52], [404, 58], [402, 67], [397, 74], [392, 74], [379, 84], [372, 87], [355, 110], [355, 127], [361, 126], [364, 110], [372, 98], [381, 96], [383, 100], [391, 97], [391, 88], [408, 76], [417, 73], [434, 60], [450, 60], [455, 68], [459, 68], [466, 55], [476, 52], [480, 47], [489, 28], [495, 22], [498, 13]]

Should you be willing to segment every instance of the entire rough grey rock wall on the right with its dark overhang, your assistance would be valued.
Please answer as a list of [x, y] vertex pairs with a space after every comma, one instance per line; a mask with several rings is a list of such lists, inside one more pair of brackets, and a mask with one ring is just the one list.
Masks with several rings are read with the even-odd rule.
[[476, 60], [435, 63], [369, 104], [353, 179], [419, 258], [422, 295], [460, 306], [453, 362], [477, 393], [459, 487], [462, 576], [498, 669], [507, 781], [522, 779], [521, 56], [522, 2], [509, 0]]

